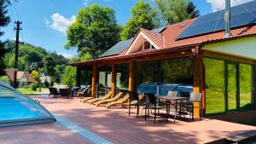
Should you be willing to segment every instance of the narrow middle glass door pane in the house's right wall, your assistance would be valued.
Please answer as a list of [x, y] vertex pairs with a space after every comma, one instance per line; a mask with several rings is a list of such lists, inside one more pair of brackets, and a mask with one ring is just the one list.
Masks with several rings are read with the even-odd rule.
[[226, 64], [226, 108], [227, 112], [237, 110], [237, 64], [227, 63]]

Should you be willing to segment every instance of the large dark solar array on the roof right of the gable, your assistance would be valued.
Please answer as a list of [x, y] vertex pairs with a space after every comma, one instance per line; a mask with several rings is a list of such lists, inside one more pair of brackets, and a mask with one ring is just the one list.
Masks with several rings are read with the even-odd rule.
[[[178, 39], [194, 37], [210, 32], [218, 32], [225, 29], [225, 10], [220, 10], [212, 14], [202, 15], [195, 20]], [[243, 3], [231, 8], [231, 28], [238, 26], [252, 25], [256, 23], [256, 1]]]

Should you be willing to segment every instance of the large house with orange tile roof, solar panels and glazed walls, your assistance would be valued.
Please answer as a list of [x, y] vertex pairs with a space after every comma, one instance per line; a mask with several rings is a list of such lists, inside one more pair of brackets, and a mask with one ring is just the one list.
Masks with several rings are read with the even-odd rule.
[[102, 94], [99, 85], [114, 92], [156, 84], [151, 91], [157, 95], [166, 95], [166, 84], [191, 85], [202, 93], [204, 117], [256, 118], [256, 1], [231, 11], [230, 37], [224, 10], [151, 31], [141, 28], [100, 58], [71, 64], [77, 85], [91, 84], [94, 96]]

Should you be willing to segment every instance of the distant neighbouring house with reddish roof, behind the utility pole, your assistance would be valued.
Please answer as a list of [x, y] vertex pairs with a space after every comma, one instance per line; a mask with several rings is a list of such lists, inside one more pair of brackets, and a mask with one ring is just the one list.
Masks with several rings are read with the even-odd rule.
[[[15, 72], [12, 69], [5, 69], [4, 70], [7, 74], [7, 76], [9, 77], [9, 79], [14, 82], [14, 74]], [[18, 82], [18, 86], [20, 88], [26, 87], [27, 84], [31, 84], [36, 82], [34, 78], [32, 78], [32, 76], [30, 75], [29, 72], [21, 72], [18, 71], [17, 72], [17, 82]]]

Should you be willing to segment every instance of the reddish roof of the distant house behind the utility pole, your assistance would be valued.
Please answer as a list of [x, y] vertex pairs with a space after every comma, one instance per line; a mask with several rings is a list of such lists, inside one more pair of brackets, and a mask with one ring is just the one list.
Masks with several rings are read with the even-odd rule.
[[[7, 74], [7, 76], [12, 80], [14, 81], [14, 71], [12, 69], [5, 69], [4, 70]], [[18, 71], [17, 72], [17, 80], [19, 81], [20, 78], [22, 78], [24, 75], [26, 75], [26, 78], [28, 78], [28, 83], [34, 83], [36, 82], [34, 78], [32, 78], [32, 76], [30, 75], [29, 72], [21, 72], [21, 71]]]

